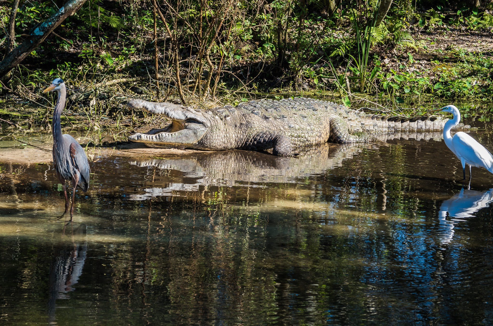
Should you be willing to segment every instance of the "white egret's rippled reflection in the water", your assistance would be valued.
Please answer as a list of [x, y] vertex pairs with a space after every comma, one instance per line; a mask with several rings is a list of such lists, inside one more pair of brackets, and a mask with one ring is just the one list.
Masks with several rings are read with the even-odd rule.
[[[445, 200], [440, 206], [438, 221], [443, 228], [441, 233], [442, 244], [450, 243], [454, 236], [454, 225], [464, 221], [463, 218], [474, 217], [474, 213], [486, 207], [493, 201], [493, 189], [487, 192], [479, 192], [462, 188], [452, 198]], [[450, 221], [447, 220], [447, 216]]]

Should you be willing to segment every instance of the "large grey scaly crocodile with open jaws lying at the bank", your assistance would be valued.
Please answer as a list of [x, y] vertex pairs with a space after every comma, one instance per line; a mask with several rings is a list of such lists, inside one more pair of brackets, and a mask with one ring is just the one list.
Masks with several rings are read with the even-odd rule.
[[[128, 136], [154, 148], [199, 150], [243, 149], [296, 156], [293, 147], [325, 142], [378, 141], [379, 134], [441, 131], [449, 119], [367, 114], [343, 105], [312, 98], [261, 99], [237, 107], [197, 109], [168, 102], [131, 99], [127, 106], [165, 115], [172, 123], [163, 129]], [[470, 126], [459, 124], [457, 129]]]

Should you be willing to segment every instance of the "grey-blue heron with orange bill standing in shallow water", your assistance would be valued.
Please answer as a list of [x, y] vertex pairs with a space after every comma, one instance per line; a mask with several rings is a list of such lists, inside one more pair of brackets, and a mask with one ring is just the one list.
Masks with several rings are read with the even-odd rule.
[[55, 78], [51, 85], [43, 93], [57, 91], [58, 99], [53, 111], [52, 133], [53, 133], [53, 163], [55, 164], [58, 180], [63, 187], [65, 196], [65, 212], [69, 211], [69, 198], [65, 188], [65, 180], [72, 180], [72, 204], [70, 205], [70, 221], [73, 216], [73, 201], [75, 200], [75, 189], [77, 186], [84, 192], [89, 188], [89, 163], [84, 149], [68, 134], [62, 134], [60, 116], [65, 107], [67, 89], [61, 78]]

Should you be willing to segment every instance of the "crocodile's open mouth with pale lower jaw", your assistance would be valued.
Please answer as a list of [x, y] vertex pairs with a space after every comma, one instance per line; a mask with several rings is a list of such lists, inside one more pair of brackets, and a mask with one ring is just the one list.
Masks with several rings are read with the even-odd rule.
[[163, 129], [152, 129], [145, 133], [135, 133], [128, 140], [159, 145], [159, 147], [184, 148], [196, 144], [206, 133], [207, 127], [195, 120], [173, 120]]

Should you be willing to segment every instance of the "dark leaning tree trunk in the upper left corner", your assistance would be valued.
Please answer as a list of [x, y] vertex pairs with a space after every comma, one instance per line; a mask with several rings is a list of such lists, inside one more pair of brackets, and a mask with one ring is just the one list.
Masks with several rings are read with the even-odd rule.
[[44, 39], [60, 25], [65, 18], [73, 14], [87, 0], [68, 0], [53, 16], [37, 25], [30, 33], [24, 42], [18, 47], [10, 51], [2, 62], [0, 62], [0, 77], [4, 76], [12, 68], [26, 59], [29, 54], [34, 51]]

